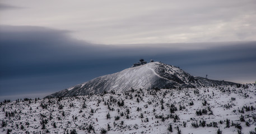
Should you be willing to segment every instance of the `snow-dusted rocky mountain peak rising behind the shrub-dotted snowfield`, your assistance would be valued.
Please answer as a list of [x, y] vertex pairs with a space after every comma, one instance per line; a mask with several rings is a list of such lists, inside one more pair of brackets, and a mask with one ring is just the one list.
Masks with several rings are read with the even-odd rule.
[[98, 94], [114, 90], [124, 92], [134, 89], [153, 88], [193, 88], [210, 85], [234, 85], [236, 83], [194, 77], [179, 67], [160, 62], [151, 62], [128, 68], [118, 73], [99, 76], [88, 82], [61, 90], [45, 98], [70, 97], [87, 94]]

